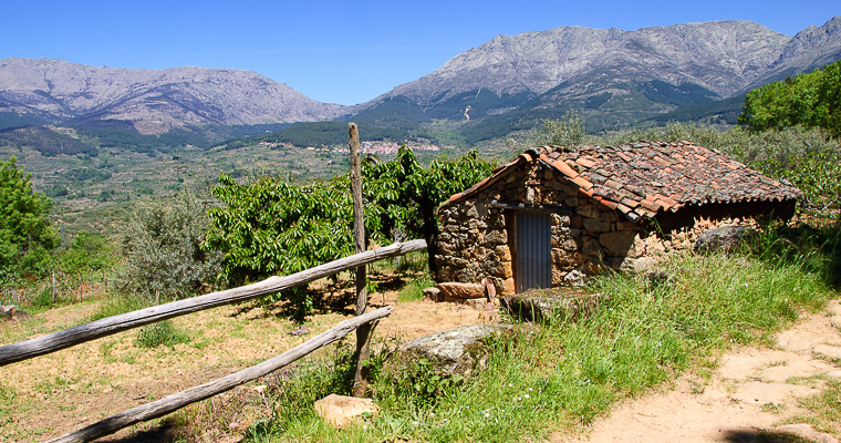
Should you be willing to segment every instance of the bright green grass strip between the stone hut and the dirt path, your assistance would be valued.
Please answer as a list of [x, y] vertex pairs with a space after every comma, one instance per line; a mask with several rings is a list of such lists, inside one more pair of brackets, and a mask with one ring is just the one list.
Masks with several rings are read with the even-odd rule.
[[703, 375], [735, 344], [769, 344], [799, 310], [816, 311], [837, 296], [826, 271], [837, 262], [824, 249], [767, 246], [731, 257], [676, 257], [663, 269], [673, 277], [656, 286], [606, 276], [592, 289], [611, 299], [590, 319], [494, 343], [488, 370], [463, 383], [418, 390], [380, 372], [374, 398], [382, 412], [364, 426], [339, 432], [318, 419], [312, 393], [322, 391], [310, 383], [326, 389], [318, 380], [330, 373], [303, 374], [309, 380], [290, 381], [273, 398], [273, 419], [255, 425], [250, 441], [509, 442], [579, 429], [621, 399], [686, 371]]

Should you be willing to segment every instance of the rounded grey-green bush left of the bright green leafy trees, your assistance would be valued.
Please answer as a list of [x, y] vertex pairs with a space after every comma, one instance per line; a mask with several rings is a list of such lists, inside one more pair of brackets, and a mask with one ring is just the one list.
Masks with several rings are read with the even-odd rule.
[[128, 258], [118, 288], [146, 300], [199, 293], [221, 271], [221, 253], [201, 248], [208, 226], [205, 203], [191, 192], [138, 203], [121, 233]]

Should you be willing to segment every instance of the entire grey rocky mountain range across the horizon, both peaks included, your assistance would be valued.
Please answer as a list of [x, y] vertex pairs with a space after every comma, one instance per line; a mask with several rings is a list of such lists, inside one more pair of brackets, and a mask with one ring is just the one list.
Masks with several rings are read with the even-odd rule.
[[[3, 131], [59, 123], [84, 136], [76, 140], [143, 150], [209, 146], [293, 122], [351, 119], [397, 130], [399, 140], [435, 138], [438, 131], [447, 143], [466, 144], [569, 111], [579, 112], [591, 132], [686, 119], [733, 124], [750, 89], [839, 59], [841, 17], [795, 37], [749, 21], [636, 31], [564, 27], [498, 35], [365, 104], [341, 106], [247, 71], [12, 58], [0, 60], [0, 144], [32, 143], [58, 155], [53, 136]], [[313, 127], [298, 132], [314, 134]]]

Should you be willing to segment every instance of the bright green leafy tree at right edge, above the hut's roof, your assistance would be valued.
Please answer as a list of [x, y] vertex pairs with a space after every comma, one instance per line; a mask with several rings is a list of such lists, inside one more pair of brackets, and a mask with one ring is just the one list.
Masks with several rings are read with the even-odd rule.
[[841, 60], [748, 92], [739, 123], [755, 132], [820, 127], [841, 137]]

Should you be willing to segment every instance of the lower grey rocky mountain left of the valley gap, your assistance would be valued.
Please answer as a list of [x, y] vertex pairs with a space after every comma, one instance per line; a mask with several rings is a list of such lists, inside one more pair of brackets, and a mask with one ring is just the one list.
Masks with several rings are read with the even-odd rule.
[[133, 70], [9, 58], [0, 60], [2, 113], [33, 123], [127, 121], [141, 134], [162, 134], [188, 125], [333, 120], [347, 109], [248, 71]]

